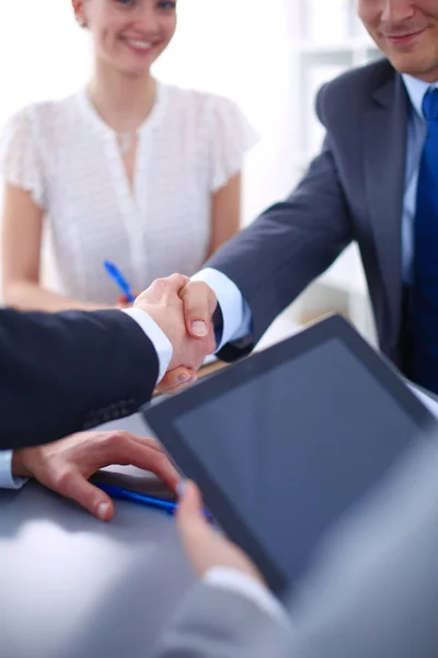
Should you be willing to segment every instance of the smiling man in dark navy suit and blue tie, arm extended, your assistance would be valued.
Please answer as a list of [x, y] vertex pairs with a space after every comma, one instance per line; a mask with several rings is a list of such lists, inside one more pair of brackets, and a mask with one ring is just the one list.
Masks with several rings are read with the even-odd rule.
[[359, 0], [358, 10], [388, 59], [321, 89], [322, 152], [285, 202], [193, 277], [187, 327], [195, 336], [192, 321], [208, 320], [217, 299], [220, 355], [244, 355], [356, 240], [382, 352], [438, 392], [437, 3]]

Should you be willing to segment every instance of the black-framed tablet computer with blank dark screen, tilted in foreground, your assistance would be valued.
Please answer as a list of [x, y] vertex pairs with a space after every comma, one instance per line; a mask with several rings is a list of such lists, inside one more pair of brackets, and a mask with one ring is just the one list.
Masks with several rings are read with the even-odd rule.
[[342, 317], [143, 408], [229, 537], [281, 594], [437, 420]]

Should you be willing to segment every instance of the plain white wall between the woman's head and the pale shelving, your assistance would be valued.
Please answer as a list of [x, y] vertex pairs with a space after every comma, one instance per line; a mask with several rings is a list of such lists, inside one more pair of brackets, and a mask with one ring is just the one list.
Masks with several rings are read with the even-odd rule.
[[245, 168], [244, 223], [291, 186], [289, 0], [180, 0], [161, 78], [234, 99], [261, 135]]

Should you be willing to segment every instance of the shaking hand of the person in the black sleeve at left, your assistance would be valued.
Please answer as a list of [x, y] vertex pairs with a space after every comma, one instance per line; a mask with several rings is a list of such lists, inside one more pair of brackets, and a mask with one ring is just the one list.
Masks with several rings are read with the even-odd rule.
[[182, 274], [158, 279], [137, 297], [134, 307], [148, 313], [171, 341], [173, 355], [169, 370], [185, 366], [193, 374], [193, 371], [196, 372], [200, 367], [205, 358], [215, 351], [216, 343], [211, 316], [203, 336], [198, 332], [195, 339], [193, 333], [187, 334], [184, 318], [185, 302], [180, 297], [180, 294], [185, 295], [183, 288], [187, 284], [188, 279]]

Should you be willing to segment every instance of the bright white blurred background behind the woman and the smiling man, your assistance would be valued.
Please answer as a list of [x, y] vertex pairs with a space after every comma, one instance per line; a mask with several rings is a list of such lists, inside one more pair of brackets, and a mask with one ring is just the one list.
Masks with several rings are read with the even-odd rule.
[[[354, 0], [178, 0], [178, 30], [155, 65], [161, 79], [234, 99], [261, 135], [244, 166], [243, 224], [283, 198], [318, 152], [318, 88], [378, 56]], [[87, 82], [89, 36], [70, 0], [0, 8], [0, 126], [25, 103], [61, 98]], [[50, 265], [45, 268], [50, 282]], [[355, 247], [286, 313], [302, 322], [343, 311], [373, 340]]]

